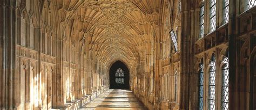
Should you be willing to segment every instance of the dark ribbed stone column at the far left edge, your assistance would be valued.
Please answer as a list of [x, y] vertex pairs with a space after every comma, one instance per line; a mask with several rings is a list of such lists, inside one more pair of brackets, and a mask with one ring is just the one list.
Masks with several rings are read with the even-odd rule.
[[15, 109], [18, 96], [16, 80], [17, 1], [0, 1], [0, 108]]

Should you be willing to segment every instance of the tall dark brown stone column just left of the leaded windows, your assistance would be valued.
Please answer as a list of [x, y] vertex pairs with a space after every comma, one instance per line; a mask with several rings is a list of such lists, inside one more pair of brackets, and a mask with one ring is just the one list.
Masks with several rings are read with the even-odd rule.
[[190, 77], [194, 72], [194, 36], [192, 31], [194, 10], [190, 9], [194, 1], [182, 1], [181, 9], [181, 40], [180, 40], [180, 93], [178, 96], [179, 109], [189, 109]]

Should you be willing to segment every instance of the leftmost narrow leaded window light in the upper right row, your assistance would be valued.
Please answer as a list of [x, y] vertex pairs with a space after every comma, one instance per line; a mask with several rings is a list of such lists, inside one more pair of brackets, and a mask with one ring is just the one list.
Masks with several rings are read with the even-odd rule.
[[204, 36], [204, 4], [200, 8], [200, 18], [199, 18], [199, 38]]

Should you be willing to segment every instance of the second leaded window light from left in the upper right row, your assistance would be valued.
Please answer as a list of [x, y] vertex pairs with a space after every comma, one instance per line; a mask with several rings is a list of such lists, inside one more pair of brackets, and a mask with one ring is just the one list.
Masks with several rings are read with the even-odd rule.
[[216, 0], [210, 0], [210, 32], [216, 28]]

